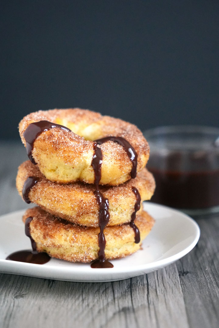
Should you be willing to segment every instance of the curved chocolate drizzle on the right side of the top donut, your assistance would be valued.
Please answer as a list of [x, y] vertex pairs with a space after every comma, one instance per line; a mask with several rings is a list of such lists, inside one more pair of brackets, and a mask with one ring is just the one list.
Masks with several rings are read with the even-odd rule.
[[134, 179], [137, 174], [137, 165], [138, 165], [138, 154], [136, 153], [135, 149], [130, 145], [130, 143], [126, 139], [122, 137], [105, 137], [96, 140], [96, 143], [98, 143], [98, 145], [101, 145], [102, 143], [107, 141], [117, 142], [124, 148], [126, 154], [128, 155], [128, 157], [132, 162], [131, 178]]

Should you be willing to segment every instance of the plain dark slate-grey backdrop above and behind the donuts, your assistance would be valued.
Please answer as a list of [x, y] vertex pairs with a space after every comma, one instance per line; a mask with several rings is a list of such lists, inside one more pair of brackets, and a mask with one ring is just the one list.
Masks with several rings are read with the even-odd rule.
[[3, 1], [1, 138], [81, 107], [159, 125], [219, 122], [219, 1]]

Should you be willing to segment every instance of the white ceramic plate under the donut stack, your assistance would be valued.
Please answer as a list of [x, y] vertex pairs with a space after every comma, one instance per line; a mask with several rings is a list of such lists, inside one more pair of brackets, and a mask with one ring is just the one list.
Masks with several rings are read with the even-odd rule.
[[72, 263], [52, 258], [39, 265], [5, 260], [12, 252], [30, 249], [17, 211], [0, 216], [0, 272], [67, 281], [114, 281], [136, 277], [173, 263], [196, 245], [200, 230], [189, 216], [168, 207], [144, 203], [144, 210], [156, 222], [142, 243], [142, 250], [123, 259], [113, 260], [114, 268], [92, 269], [90, 264]]

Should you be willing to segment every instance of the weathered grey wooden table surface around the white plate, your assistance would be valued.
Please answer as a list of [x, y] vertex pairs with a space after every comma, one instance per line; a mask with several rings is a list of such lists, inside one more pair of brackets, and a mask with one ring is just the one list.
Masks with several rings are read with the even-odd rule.
[[[15, 188], [21, 143], [0, 143], [0, 214], [28, 207]], [[219, 326], [219, 215], [196, 218], [201, 237], [182, 259], [153, 273], [105, 283], [0, 274], [0, 327]]]

